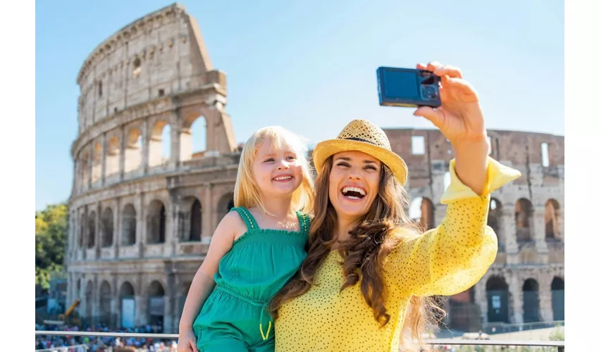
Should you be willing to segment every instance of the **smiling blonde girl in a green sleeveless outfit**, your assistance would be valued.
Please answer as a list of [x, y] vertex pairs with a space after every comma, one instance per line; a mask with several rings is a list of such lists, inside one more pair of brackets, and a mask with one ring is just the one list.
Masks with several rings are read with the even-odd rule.
[[247, 140], [235, 208], [218, 224], [187, 294], [178, 351], [274, 351], [268, 303], [306, 257], [314, 200], [306, 150], [282, 127]]

